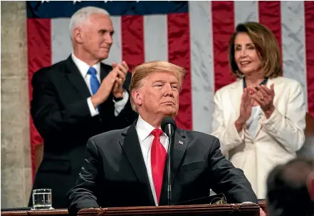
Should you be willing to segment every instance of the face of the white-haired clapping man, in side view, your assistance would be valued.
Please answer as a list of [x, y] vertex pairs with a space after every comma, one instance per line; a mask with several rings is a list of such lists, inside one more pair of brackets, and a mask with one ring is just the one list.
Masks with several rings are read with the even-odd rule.
[[95, 60], [108, 58], [112, 45], [113, 26], [108, 15], [93, 14], [80, 28], [83, 49]]

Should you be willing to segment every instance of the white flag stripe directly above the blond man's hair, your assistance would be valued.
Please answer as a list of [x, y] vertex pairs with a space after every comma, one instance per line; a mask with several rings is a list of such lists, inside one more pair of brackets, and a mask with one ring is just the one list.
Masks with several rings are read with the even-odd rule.
[[168, 61], [167, 15], [144, 16], [145, 61]]

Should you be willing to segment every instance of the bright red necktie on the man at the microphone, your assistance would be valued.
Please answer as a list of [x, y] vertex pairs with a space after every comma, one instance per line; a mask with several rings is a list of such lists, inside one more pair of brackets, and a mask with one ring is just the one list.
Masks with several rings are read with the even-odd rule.
[[157, 202], [159, 203], [160, 193], [162, 191], [162, 179], [164, 176], [164, 163], [166, 162], [167, 152], [160, 143], [159, 138], [162, 135], [162, 130], [152, 130], [152, 135], [155, 136], [152, 140], [152, 150], [150, 152], [150, 162], [152, 165], [152, 179], [155, 185]]

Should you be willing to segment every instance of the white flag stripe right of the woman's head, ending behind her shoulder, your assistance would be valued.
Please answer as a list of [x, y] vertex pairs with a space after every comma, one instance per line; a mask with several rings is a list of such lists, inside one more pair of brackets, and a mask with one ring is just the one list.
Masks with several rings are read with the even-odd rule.
[[308, 107], [303, 1], [281, 1], [281, 37], [283, 76], [302, 84]]

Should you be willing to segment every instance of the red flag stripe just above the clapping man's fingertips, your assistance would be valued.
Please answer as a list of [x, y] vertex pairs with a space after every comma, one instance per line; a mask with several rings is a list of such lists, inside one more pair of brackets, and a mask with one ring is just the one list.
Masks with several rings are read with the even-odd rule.
[[122, 61], [132, 71], [145, 61], [143, 16], [122, 16], [121, 22]]

